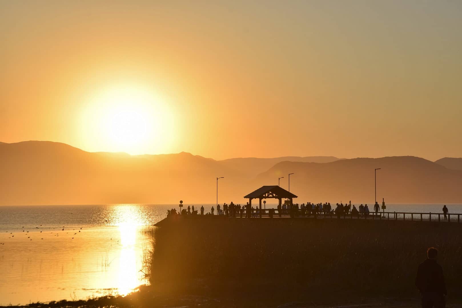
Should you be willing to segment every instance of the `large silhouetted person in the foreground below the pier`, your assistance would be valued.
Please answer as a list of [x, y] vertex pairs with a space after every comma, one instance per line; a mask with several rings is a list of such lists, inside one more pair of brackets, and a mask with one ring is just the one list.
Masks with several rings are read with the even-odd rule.
[[446, 284], [444, 284], [443, 268], [436, 263], [438, 249], [430, 247], [427, 249], [427, 259], [419, 264], [415, 285], [422, 296], [422, 308], [444, 308], [447, 295]]

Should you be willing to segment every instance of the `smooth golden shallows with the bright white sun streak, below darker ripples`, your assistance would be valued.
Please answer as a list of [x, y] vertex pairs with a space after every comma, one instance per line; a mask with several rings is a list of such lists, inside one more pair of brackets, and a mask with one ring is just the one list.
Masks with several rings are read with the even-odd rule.
[[152, 240], [140, 208], [111, 205], [101, 214], [106, 226], [0, 234], [0, 305], [125, 296], [147, 284], [143, 260]]

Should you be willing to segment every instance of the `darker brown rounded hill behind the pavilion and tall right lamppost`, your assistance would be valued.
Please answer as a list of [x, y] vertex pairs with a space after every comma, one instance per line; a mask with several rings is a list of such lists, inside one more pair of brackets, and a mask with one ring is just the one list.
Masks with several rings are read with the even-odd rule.
[[[378, 201], [383, 197], [392, 203], [462, 202], [462, 171], [412, 156], [354, 158], [332, 163], [282, 162], [257, 179], [266, 183], [293, 172], [291, 192], [302, 197], [299, 203], [308, 200], [364, 203], [374, 201], [375, 168], [382, 168], [377, 170]], [[283, 188], [287, 189], [286, 183]]]

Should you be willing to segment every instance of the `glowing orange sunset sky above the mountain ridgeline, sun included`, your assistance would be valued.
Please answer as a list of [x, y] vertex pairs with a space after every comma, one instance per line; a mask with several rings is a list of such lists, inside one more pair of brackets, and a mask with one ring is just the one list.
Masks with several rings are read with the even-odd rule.
[[461, 16], [462, 1], [1, 1], [0, 141], [462, 157]]

